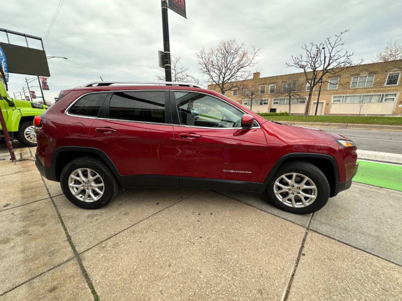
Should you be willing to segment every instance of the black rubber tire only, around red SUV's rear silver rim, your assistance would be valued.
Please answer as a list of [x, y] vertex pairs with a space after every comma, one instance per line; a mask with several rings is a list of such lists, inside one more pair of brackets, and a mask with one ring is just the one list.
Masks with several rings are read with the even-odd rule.
[[[102, 197], [100, 197], [98, 200], [94, 202], [89, 203], [79, 200], [70, 191], [70, 188], [68, 186], [68, 179], [72, 172], [80, 168], [91, 169], [100, 176], [100, 178], [104, 183], [104, 190]], [[111, 170], [104, 163], [91, 157], [78, 158], [68, 163], [61, 171], [60, 186], [64, 195], [71, 203], [85, 209], [97, 209], [104, 207], [119, 192], [119, 184], [115, 176], [111, 172]], [[83, 191], [85, 192], [85, 190]]]

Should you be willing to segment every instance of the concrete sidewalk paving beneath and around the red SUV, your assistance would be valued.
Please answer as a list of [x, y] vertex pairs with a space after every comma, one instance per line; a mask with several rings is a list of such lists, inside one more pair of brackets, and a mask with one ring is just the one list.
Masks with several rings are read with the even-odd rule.
[[19, 152], [0, 161], [2, 301], [402, 295], [402, 193], [354, 183], [300, 216], [254, 194], [136, 189], [84, 210]]

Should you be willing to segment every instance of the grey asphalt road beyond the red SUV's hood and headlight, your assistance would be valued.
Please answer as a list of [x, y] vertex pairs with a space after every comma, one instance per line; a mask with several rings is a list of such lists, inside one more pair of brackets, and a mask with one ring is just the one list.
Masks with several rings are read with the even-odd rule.
[[357, 144], [358, 149], [402, 154], [402, 132], [378, 131], [352, 128], [321, 128], [350, 138]]

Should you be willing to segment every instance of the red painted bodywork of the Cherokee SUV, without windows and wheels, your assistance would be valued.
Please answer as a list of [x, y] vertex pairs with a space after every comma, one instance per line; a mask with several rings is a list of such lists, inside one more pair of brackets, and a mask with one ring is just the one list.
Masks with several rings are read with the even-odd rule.
[[[68, 106], [85, 93], [127, 90], [183, 90], [206, 93], [251, 114], [259, 126], [233, 129], [203, 128], [65, 114]], [[284, 156], [302, 154], [297, 156], [303, 158], [303, 154], [315, 154], [328, 156], [338, 175], [336, 182], [345, 184], [356, 174], [358, 166], [356, 148], [343, 147], [336, 141], [345, 139], [341, 135], [267, 121], [217, 92], [194, 87], [79, 87], [65, 93], [60, 101], [46, 111], [43, 119], [42, 127], [36, 128], [36, 155], [44, 169], [53, 169], [52, 172], [46, 173], [47, 178], [55, 181], [58, 178], [54, 172], [56, 159], [53, 155], [60, 147], [65, 146], [86, 147], [103, 152], [116, 168], [119, 177], [159, 175], [263, 184]], [[96, 130], [105, 127], [116, 131]]]

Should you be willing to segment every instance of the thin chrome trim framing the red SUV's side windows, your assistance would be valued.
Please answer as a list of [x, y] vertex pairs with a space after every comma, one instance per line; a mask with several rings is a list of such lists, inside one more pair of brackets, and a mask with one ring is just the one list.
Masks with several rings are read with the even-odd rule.
[[[213, 129], [245, 129], [245, 127], [208, 127], [208, 126], [191, 126], [191, 125], [185, 125], [185, 124], [174, 124], [174, 123], [160, 123], [160, 122], [146, 122], [146, 121], [136, 121], [136, 120], [125, 120], [125, 119], [112, 119], [112, 118], [98, 118], [98, 117], [92, 117], [92, 116], [85, 116], [85, 115], [75, 115], [75, 114], [70, 114], [68, 111], [70, 109], [70, 107], [72, 107], [78, 100], [80, 100], [82, 97], [84, 97], [85, 95], [88, 94], [94, 94], [94, 93], [109, 93], [109, 92], [136, 92], [136, 91], [173, 91], [173, 92], [183, 92], [183, 91], [189, 91], [189, 92], [193, 92], [193, 93], [199, 93], [199, 94], [205, 94], [214, 98], [217, 98], [219, 100], [224, 101], [225, 103], [229, 104], [230, 106], [234, 107], [235, 109], [239, 110], [240, 112], [242, 112], [243, 114], [248, 114], [245, 111], [243, 111], [242, 109], [238, 108], [237, 106], [231, 104], [230, 102], [226, 101], [225, 99], [219, 98], [217, 96], [214, 96], [212, 94], [209, 93], [205, 93], [205, 92], [198, 92], [198, 91], [191, 91], [191, 90], [173, 90], [173, 89], [166, 89], [166, 90], [155, 90], [155, 89], [141, 89], [141, 90], [108, 90], [108, 91], [96, 91], [96, 92], [88, 92], [85, 94], [82, 94], [81, 96], [79, 96], [77, 99], [75, 99], [64, 111], [64, 114], [67, 116], [72, 116], [72, 117], [80, 117], [80, 118], [89, 118], [89, 119], [99, 119], [99, 120], [112, 120], [112, 121], [125, 121], [125, 122], [136, 122], [136, 123], [145, 123], [145, 124], [162, 124], [162, 125], [171, 125], [171, 126], [185, 126], [185, 127], [196, 127], [196, 128], [213, 128]], [[176, 101], [176, 99], [174, 99], [174, 101]], [[261, 125], [260, 123], [255, 120], [255, 122], [257, 122], [258, 126], [253, 126], [253, 127], [247, 127], [247, 128], [260, 128]]]

